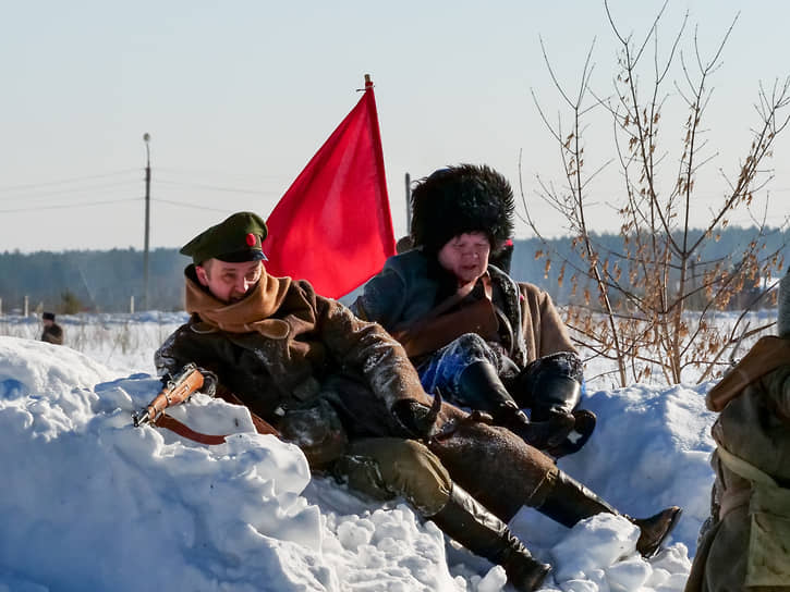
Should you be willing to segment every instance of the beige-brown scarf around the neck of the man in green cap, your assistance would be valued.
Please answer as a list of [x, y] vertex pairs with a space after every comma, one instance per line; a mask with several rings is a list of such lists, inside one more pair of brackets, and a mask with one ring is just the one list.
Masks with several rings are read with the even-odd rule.
[[215, 298], [187, 275], [186, 311], [197, 313], [209, 326], [228, 333], [257, 331], [266, 337], [284, 340], [289, 334], [289, 324], [269, 317], [280, 308], [290, 286], [290, 278], [275, 278], [264, 273], [244, 299], [229, 305]]

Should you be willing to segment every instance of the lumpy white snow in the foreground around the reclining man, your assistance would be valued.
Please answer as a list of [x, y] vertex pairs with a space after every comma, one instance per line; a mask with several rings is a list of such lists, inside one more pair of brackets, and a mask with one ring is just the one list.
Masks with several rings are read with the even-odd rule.
[[[405, 502], [311, 478], [302, 453], [254, 433], [243, 408], [195, 395], [172, 409], [232, 434], [217, 446], [134, 428], [159, 390], [153, 353], [184, 319], [59, 316], [60, 347], [36, 341], [35, 320], [0, 318], [0, 333], [21, 335], [0, 336], [0, 592], [510, 590], [500, 567]], [[552, 564], [543, 590], [683, 590], [714, 480], [712, 385], [588, 385], [598, 427], [560, 468], [630, 516], [684, 513], [645, 560], [623, 517], [567, 529], [523, 508], [511, 528]]]

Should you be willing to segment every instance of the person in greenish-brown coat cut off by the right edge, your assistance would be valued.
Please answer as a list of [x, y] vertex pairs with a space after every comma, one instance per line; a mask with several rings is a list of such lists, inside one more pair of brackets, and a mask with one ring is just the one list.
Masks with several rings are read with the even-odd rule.
[[708, 392], [716, 481], [686, 592], [790, 589], [790, 274], [777, 330]]

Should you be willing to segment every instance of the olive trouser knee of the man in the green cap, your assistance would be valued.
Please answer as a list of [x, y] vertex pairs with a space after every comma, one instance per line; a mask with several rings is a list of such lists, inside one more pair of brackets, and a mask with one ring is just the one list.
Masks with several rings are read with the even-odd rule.
[[450, 474], [438, 457], [420, 442], [401, 440], [392, 446], [390, 461], [380, 467], [387, 486], [424, 516], [433, 516], [445, 507], [450, 496]]

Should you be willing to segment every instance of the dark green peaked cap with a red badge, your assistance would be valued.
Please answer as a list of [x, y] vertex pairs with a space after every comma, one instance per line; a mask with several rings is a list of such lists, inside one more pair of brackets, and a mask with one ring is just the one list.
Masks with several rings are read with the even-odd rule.
[[267, 234], [266, 222], [259, 215], [238, 212], [195, 236], [179, 252], [192, 257], [195, 264], [207, 259], [230, 263], [266, 261], [262, 243]]

